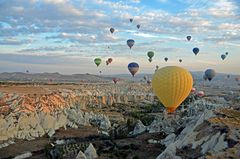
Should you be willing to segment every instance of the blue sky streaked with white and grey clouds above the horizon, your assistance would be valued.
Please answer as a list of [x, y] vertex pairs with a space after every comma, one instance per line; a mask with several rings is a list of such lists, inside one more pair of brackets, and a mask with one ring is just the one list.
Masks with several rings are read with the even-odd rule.
[[137, 62], [139, 73], [176, 65], [240, 74], [239, 53], [239, 0], [0, 0], [0, 72], [123, 74]]

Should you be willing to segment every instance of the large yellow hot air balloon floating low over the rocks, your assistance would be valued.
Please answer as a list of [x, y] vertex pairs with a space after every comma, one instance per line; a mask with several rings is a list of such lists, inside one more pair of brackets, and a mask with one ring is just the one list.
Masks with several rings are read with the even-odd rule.
[[152, 78], [153, 92], [169, 113], [187, 98], [193, 86], [192, 75], [178, 66], [163, 67]]

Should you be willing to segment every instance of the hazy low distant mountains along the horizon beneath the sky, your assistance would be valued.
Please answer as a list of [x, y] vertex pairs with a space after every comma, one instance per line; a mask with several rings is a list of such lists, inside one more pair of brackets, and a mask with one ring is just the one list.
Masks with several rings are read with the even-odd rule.
[[[202, 81], [203, 72], [192, 72], [195, 81]], [[130, 81], [141, 81], [143, 77], [147, 76], [149, 79], [152, 78], [152, 74], [137, 74], [132, 77], [130, 74], [116, 74], [116, 75], [93, 75], [93, 74], [72, 74], [63, 75], [60, 73], [0, 73], [0, 81], [22, 81], [22, 82], [80, 82], [80, 81], [101, 81], [108, 82], [111, 81], [113, 77], [120, 78], [123, 80]], [[226, 80], [226, 74], [218, 73], [213, 81], [224, 81]], [[234, 81], [236, 75], [231, 75], [230, 79]]]

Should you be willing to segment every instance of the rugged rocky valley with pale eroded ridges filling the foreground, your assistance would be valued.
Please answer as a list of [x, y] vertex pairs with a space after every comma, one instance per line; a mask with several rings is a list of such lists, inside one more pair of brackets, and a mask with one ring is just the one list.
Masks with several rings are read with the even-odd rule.
[[239, 91], [191, 94], [167, 114], [143, 83], [25, 87], [42, 93], [0, 93], [2, 158], [240, 157]]

